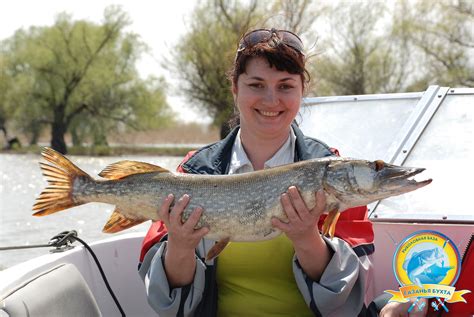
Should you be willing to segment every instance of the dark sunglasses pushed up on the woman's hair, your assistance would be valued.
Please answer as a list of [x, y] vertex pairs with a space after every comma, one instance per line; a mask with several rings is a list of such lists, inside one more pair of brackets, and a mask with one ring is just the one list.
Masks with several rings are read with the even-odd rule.
[[245, 34], [240, 40], [237, 53], [240, 53], [246, 48], [252, 47], [258, 43], [264, 43], [270, 40], [275, 41], [276, 44], [281, 42], [303, 54], [303, 42], [298, 35], [290, 31], [276, 30], [274, 28], [270, 30], [258, 29]]

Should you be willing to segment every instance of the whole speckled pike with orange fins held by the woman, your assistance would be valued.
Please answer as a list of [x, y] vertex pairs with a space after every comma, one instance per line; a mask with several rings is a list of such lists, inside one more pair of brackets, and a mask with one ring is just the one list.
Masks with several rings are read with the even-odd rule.
[[147, 220], [158, 219], [157, 210], [168, 194], [191, 200], [183, 212], [185, 221], [192, 210], [204, 212], [197, 228], [207, 226], [206, 238], [219, 241], [208, 257], [215, 257], [229, 241], [260, 241], [275, 238], [281, 231], [272, 217], [287, 221], [280, 196], [296, 186], [308, 208], [315, 192], [322, 189], [329, 211], [323, 226], [333, 236], [339, 213], [390, 196], [407, 193], [431, 183], [413, 176], [423, 168], [395, 166], [383, 161], [327, 157], [237, 175], [195, 175], [174, 173], [162, 167], [136, 161], [120, 161], [93, 179], [62, 154], [45, 148], [41, 162], [48, 187], [33, 206], [34, 216], [45, 216], [90, 202], [115, 205], [103, 231], [115, 233]]

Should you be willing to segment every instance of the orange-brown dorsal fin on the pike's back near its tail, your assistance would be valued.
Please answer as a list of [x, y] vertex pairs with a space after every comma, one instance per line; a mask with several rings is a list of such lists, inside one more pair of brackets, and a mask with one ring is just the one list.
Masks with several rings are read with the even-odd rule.
[[99, 176], [107, 179], [120, 179], [129, 175], [144, 174], [144, 173], [169, 173], [169, 170], [153, 165], [150, 163], [137, 162], [137, 161], [120, 161], [110, 164]]

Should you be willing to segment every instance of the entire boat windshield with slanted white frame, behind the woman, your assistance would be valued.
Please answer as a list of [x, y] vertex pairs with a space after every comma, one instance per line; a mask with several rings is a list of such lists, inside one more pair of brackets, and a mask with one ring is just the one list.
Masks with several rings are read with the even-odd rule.
[[474, 222], [474, 89], [430, 86], [425, 92], [307, 98], [306, 135], [342, 156], [424, 167], [433, 183], [369, 206], [371, 218]]

